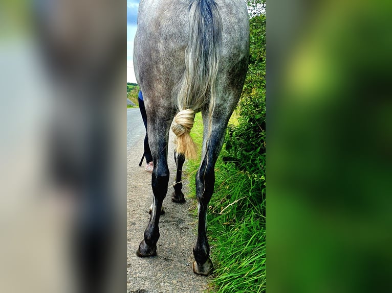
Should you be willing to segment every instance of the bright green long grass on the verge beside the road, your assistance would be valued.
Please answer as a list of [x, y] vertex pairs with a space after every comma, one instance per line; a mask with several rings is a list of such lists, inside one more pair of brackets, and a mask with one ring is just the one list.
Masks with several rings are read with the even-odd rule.
[[[201, 145], [201, 115], [191, 135]], [[225, 155], [223, 150], [221, 156]], [[215, 190], [209, 203], [207, 234], [215, 271], [210, 292], [265, 292], [264, 176], [252, 176], [222, 159], [215, 165]], [[195, 195], [194, 176], [199, 160], [186, 163], [189, 187]]]

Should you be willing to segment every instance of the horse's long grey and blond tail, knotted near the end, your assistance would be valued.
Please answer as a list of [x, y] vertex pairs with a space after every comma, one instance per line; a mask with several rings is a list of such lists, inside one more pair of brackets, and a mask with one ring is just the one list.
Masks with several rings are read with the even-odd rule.
[[[215, 80], [219, 67], [222, 17], [214, 0], [191, 0], [189, 38], [185, 50], [185, 73], [177, 96], [178, 114], [171, 125], [177, 135], [177, 153], [186, 158], [197, 156], [189, 135], [196, 109], [208, 105], [211, 119], [215, 106]], [[210, 136], [209, 130], [208, 137]]]

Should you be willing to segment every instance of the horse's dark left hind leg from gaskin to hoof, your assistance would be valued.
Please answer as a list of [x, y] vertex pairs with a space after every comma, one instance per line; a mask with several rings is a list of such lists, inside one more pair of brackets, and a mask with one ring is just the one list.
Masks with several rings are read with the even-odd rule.
[[[159, 128], [157, 128], [159, 129]], [[149, 128], [149, 144], [153, 154], [154, 170], [151, 175], [151, 186], [153, 187], [154, 200], [151, 209], [150, 220], [144, 231], [144, 239], [139, 245], [136, 254], [140, 257], [154, 256], [157, 254], [157, 242], [159, 239], [159, 218], [162, 203], [166, 197], [167, 185], [169, 183], [169, 168], [167, 166], [167, 136], [159, 135], [154, 127]], [[165, 130], [163, 130], [163, 133]], [[162, 132], [161, 132], [162, 133]]]

